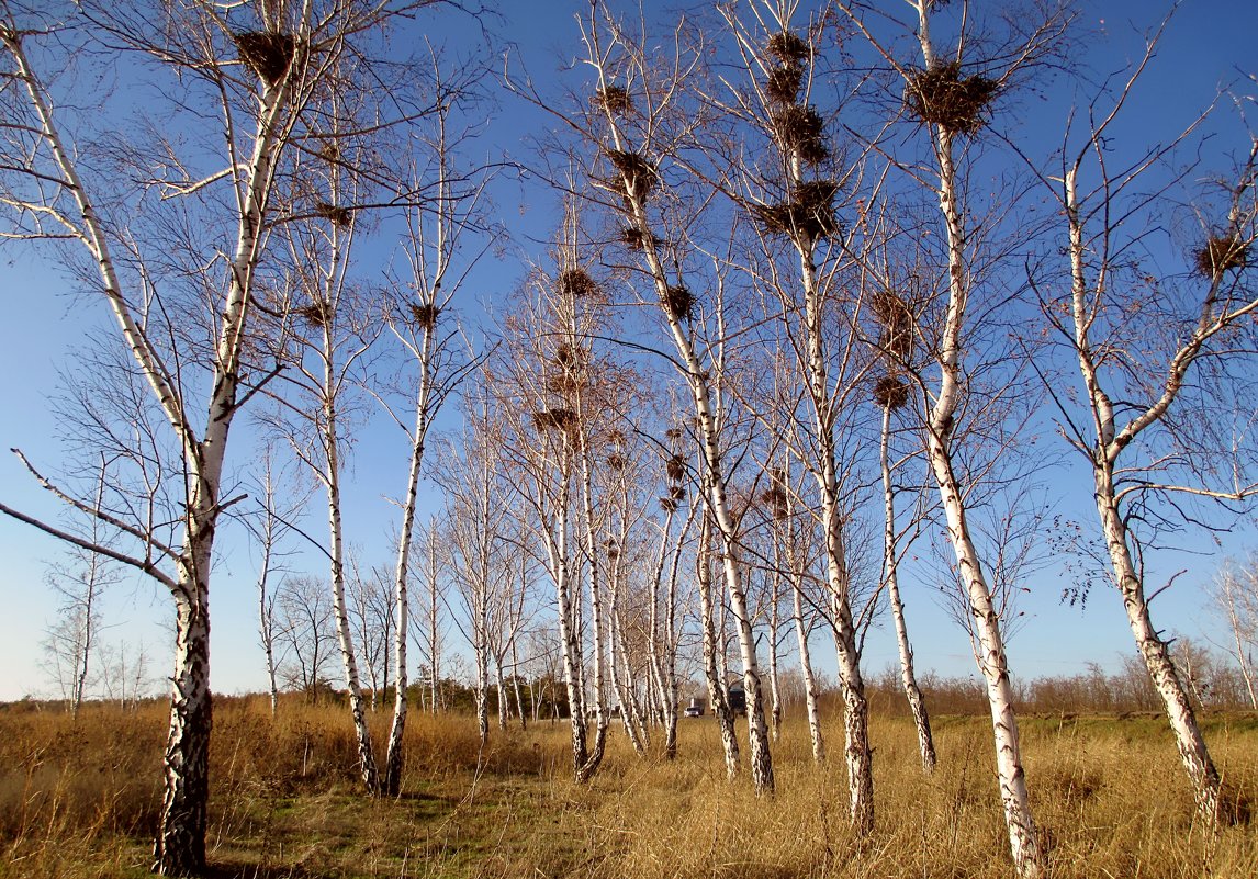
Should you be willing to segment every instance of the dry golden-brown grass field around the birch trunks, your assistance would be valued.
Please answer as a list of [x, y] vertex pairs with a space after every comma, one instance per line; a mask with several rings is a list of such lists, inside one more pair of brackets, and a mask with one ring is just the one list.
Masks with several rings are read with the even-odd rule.
[[[878, 826], [847, 830], [842, 760], [811, 762], [788, 723], [777, 795], [726, 782], [711, 719], [682, 724], [681, 757], [638, 758], [613, 728], [594, 782], [572, 783], [567, 729], [493, 731], [413, 716], [405, 793], [355, 782], [346, 712], [260, 699], [215, 704], [209, 858], [214, 876], [1009, 876], [990, 728], [936, 722], [923, 776], [907, 721], [876, 718]], [[384, 734], [385, 717], [379, 718]], [[164, 705], [63, 713], [0, 708], [0, 875], [147, 875], [160, 805]], [[1258, 827], [1210, 832], [1155, 717], [1024, 719], [1027, 770], [1052, 876], [1258, 876]], [[832, 755], [842, 731], [828, 729]], [[1230, 796], [1258, 802], [1258, 717], [1208, 719]], [[479, 758], [479, 760], [478, 760]], [[479, 765], [479, 770], [477, 768]]]

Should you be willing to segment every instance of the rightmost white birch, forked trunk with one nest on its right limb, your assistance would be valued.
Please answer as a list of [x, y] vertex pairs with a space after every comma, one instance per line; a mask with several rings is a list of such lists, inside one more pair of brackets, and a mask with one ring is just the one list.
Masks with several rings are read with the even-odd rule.
[[1222, 778], [1169, 639], [1154, 624], [1150, 601], [1157, 590], [1147, 589], [1145, 556], [1172, 519], [1201, 521], [1186, 504], [1239, 504], [1258, 492], [1248, 430], [1216, 430], [1253, 411], [1249, 382], [1235, 370], [1252, 362], [1247, 352], [1258, 312], [1258, 287], [1248, 270], [1258, 236], [1258, 136], [1243, 131], [1234, 166], [1216, 171], [1213, 191], [1199, 196], [1186, 277], [1151, 274], [1137, 257], [1150, 246], [1145, 224], [1154, 225], [1157, 207], [1180, 197], [1152, 179], [1171, 146], [1195, 137], [1199, 124], [1128, 163], [1111, 157], [1121, 111], [1156, 41], [1149, 41], [1113, 96], [1093, 101], [1081, 137], [1067, 130], [1060, 174], [1045, 182], [1063, 211], [1068, 284], [1042, 296], [1049, 326], [1078, 370], [1077, 390], [1054, 392], [1062, 433], [1088, 463], [1111, 580], [1170, 722], [1198, 814], [1213, 822], [1223, 807]]

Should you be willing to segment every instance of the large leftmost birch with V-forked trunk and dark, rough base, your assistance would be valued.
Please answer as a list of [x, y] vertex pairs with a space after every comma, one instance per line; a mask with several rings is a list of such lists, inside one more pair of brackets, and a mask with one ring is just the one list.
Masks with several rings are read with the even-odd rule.
[[[68, 28], [54, 34], [47, 19], [16, 5], [4, 8], [0, 39], [6, 74], [16, 84], [5, 94], [9, 161], [3, 200], [11, 220], [5, 234], [60, 239], [82, 249], [78, 253], [96, 273], [91, 285], [108, 307], [181, 455], [181, 488], [174, 490], [184, 494], [182, 516], [172, 543], [114, 519], [91, 500], [65, 498], [132, 538], [137, 553], [111, 551], [112, 557], [161, 582], [175, 604], [166, 791], [155, 858], [155, 869], [164, 874], [198, 873], [205, 864], [210, 568], [220, 516], [233, 502], [220, 492], [231, 421], [268, 368], [265, 361], [249, 362], [255, 353], [249, 323], [255, 280], [265, 272], [272, 211], [283, 201], [277, 196], [279, 169], [312, 127], [306, 112], [316, 92], [328, 84], [341, 54], [350, 45], [366, 49], [371, 31], [391, 11], [348, 0], [258, 9], [81, 4]], [[67, 67], [59, 52], [97, 47], [107, 53], [147, 53], [170, 74], [162, 89], [171, 96], [175, 118], [189, 131], [203, 132], [192, 138], [199, 145], [195, 155], [162, 132], [140, 126], [148, 136], [150, 155], [160, 155], [160, 161], [150, 163], [130, 152], [136, 161], [125, 163], [112, 180], [81, 165], [75, 145], [99, 131], [107, 114], [69, 118], [67, 107], [74, 98], [63, 98], [64, 83], [43, 70]], [[223, 121], [223, 130], [204, 136], [206, 119], [214, 118]], [[138, 147], [137, 140], [130, 146]], [[219, 147], [225, 153], [214, 156]], [[118, 190], [117, 199], [109, 197], [111, 190]], [[148, 211], [201, 223], [145, 224]], [[171, 230], [200, 239], [170, 249], [172, 243], [161, 236]], [[176, 260], [190, 254], [190, 265], [184, 267], [189, 270], [166, 272], [157, 253]], [[191, 297], [186, 311], [176, 302], [180, 294]], [[200, 314], [203, 303], [208, 321], [191, 336], [182, 326], [164, 323], [174, 316]], [[194, 340], [194, 350], [180, 350]], [[196, 401], [189, 389], [206, 389], [206, 396]], [[198, 409], [204, 415], [198, 416]], [[70, 538], [16, 511], [5, 512]]]

